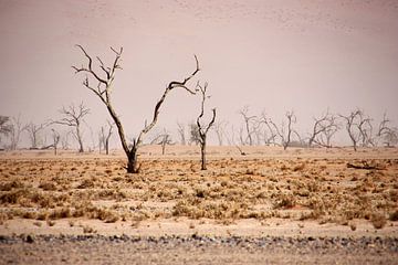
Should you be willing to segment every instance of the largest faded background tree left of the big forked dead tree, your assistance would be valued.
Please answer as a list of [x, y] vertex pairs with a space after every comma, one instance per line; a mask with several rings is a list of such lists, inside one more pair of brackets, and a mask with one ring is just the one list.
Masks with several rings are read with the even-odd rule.
[[62, 107], [62, 109], [60, 109], [60, 113], [64, 116], [64, 118], [56, 120], [54, 123], [74, 127], [74, 131], [72, 131], [72, 134], [78, 142], [78, 152], [84, 152], [83, 132], [81, 126], [84, 116], [90, 114], [90, 109], [86, 106], [84, 106], [83, 103], [81, 103], [78, 106], [71, 104], [67, 108]]

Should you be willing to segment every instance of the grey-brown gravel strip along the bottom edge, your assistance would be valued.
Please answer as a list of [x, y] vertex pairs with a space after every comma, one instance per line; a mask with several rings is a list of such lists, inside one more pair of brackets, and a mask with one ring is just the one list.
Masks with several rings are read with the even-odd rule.
[[398, 264], [397, 237], [0, 236], [0, 264]]

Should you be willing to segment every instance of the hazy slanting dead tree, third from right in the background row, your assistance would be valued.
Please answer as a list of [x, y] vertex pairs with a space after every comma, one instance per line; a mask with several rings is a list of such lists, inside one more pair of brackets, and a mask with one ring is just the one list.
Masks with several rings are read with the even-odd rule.
[[339, 126], [337, 117], [331, 114], [328, 110], [318, 118], [314, 118], [313, 131], [308, 138], [308, 146], [314, 144], [331, 148], [331, 139], [337, 132]]

